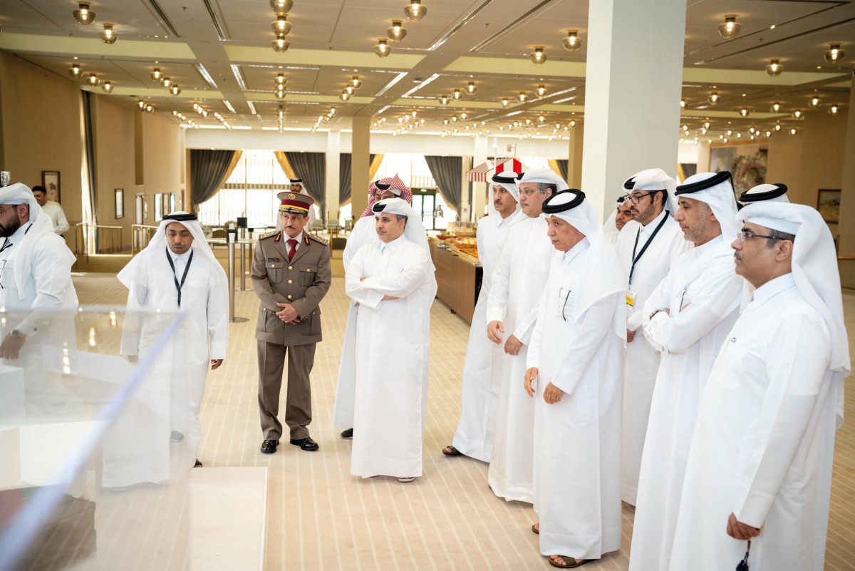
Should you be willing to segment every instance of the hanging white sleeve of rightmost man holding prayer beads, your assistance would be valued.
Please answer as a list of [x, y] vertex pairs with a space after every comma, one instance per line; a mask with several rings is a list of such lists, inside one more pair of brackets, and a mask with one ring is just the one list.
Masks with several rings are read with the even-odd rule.
[[763, 362], [746, 360], [746, 367], [764, 368], [769, 379], [758, 418], [745, 419], [756, 428], [733, 510], [752, 527], [764, 525], [793, 464], [820, 386], [828, 380], [831, 352], [828, 333], [807, 315], [793, 315], [769, 338]]

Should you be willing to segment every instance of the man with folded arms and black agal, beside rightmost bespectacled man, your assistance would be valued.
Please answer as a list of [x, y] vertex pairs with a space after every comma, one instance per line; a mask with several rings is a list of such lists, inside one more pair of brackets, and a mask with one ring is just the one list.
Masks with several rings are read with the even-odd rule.
[[695, 247], [677, 258], [643, 311], [644, 335], [662, 360], [641, 457], [631, 571], [668, 569], [700, 397], [742, 291], [725, 238], [736, 233], [730, 173], [693, 174], [675, 195], [674, 219]]

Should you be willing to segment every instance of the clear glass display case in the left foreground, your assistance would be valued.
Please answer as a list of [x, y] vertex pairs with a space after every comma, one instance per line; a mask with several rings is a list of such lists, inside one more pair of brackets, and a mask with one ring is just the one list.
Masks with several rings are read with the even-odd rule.
[[182, 319], [0, 310], [0, 570], [187, 568]]

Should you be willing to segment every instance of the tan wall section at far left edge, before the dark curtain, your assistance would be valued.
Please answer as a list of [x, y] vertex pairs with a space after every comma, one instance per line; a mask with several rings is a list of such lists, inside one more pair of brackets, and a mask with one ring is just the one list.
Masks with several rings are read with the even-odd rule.
[[[71, 224], [83, 218], [80, 189], [80, 89], [72, 81], [0, 52], [3, 156], [12, 182], [42, 184], [42, 171], [60, 173], [60, 200]], [[66, 234], [73, 240], [73, 233]], [[70, 242], [69, 242], [70, 243]]]

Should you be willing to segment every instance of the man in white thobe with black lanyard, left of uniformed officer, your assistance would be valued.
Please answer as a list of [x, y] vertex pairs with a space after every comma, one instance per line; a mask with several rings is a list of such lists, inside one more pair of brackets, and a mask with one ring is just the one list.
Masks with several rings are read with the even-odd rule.
[[[147, 356], [162, 334], [162, 324], [145, 312], [186, 314], [149, 375], [151, 382], [168, 380], [171, 438], [186, 439], [186, 450], [195, 459], [202, 438], [199, 412], [208, 368], [219, 368], [226, 358], [226, 272], [205, 240], [196, 215], [174, 212], [163, 217], [149, 244], [117, 277], [128, 289], [121, 355], [132, 361]], [[195, 465], [201, 466], [198, 459]]]

